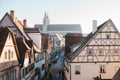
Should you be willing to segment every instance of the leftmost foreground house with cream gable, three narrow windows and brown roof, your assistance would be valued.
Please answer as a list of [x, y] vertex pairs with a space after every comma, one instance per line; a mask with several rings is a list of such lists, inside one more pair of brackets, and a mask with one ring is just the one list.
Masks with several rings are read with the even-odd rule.
[[20, 80], [19, 53], [13, 32], [0, 28], [0, 80]]

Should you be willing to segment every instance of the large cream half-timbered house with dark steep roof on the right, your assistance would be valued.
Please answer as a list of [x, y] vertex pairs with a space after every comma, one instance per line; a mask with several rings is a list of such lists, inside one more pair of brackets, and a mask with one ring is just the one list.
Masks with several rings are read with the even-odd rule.
[[112, 79], [120, 68], [120, 33], [109, 19], [65, 60], [67, 80]]

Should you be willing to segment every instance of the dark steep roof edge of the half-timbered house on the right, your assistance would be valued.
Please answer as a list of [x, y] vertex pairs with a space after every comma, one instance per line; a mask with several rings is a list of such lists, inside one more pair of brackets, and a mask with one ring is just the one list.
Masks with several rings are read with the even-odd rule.
[[[104, 26], [105, 26], [108, 22], [111, 22], [111, 23], [113, 24], [112, 20], [109, 19], [109, 20], [105, 21], [103, 24], [101, 24], [100, 26], [98, 26], [96, 32], [94, 32], [94, 33], [91, 32], [91, 33], [83, 40], [83, 42], [81, 43], [81, 45], [80, 45], [73, 53], [71, 53], [70, 55], [67, 56], [67, 59], [71, 62], [71, 61], [82, 51], [82, 49], [84, 49], [84, 47], [92, 40], [92, 38], [93, 38], [94, 36], [96, 36], [97, 33], [98, 33], [102, 28], [104, 28]], [[114, 25], [114, 24], [113, 24], [113, 25]], [[115, 26], [115, 25], [114, 25], [114, 26]], [[116, 27], [114, 27], [114, 28], [116, 29], [116, 31], [118, 31]]]

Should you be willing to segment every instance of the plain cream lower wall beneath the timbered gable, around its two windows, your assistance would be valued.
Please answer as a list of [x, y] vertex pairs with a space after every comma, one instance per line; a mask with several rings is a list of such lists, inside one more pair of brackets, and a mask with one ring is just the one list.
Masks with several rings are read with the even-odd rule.
[[[80, 74], [75, 74], [75, 66], [80, 66]], [[100, 65], [106, 66], [106, 73], [100, 73]], [[101, 74], [104, 79], [111, 79], [120, 63], [71, 63], [71, 80], [93, 80]]]

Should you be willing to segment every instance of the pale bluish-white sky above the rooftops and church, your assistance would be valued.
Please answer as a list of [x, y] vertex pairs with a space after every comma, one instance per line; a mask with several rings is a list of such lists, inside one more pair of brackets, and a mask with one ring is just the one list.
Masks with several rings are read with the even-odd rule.
[[0, 19], [10, 10], [30, 27], [41, 24], [46, 11], [51, 24], [80, 24], [83, 33], [92, 31], [92, 20], [108, 19], [120, 31], [120, 0], [0, 0]]

